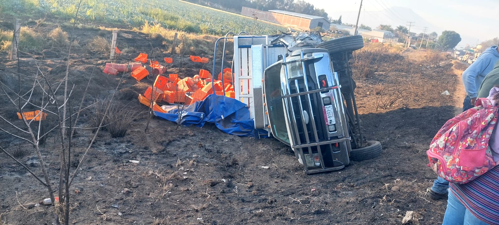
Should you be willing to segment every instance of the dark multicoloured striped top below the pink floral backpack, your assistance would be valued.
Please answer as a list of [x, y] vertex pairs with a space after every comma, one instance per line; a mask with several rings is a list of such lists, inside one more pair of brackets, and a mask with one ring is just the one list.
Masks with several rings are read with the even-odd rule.
[[499, 166], [474, 181], [463, 185], [450, 184], [451, 191], [475, 217], [499, 225]]

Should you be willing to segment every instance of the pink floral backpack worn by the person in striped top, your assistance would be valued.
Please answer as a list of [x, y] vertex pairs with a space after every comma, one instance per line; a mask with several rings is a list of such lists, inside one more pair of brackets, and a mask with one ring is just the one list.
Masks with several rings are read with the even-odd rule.
[[496, 166], [489, 139], [496, 126], [498, 106], [487, 98], [447, 121], [426, 152], [428, 164], [438, 176], [465, 184]]

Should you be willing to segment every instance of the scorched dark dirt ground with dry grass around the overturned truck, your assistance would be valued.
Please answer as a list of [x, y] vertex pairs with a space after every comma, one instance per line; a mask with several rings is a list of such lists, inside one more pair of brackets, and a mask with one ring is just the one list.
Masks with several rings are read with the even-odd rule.
[[[147, 39], [131, 31], [120, 35], [128, 42]], [[133, 45], [137, 51], [115, 61], [128, 62], [140, 51], [150, 50], [151, 45], [161, 48], [161, 41], [148, 41], [137, 42]], [[36, 63], [41, 71], [61, 76], [67, 55], [55, 53], [51, 57], [23, 53], [21, 73], [36, 73]], [[417, 53], [402, 55], [412, 54]], [[172, 56], [161, 50], [156, 55]], [[211, 70], [211, 65], [189, 62], [188, 55], [173, 57], [176, 62], [183, 58], [183, 62], [172, 65], [169, 73], [192, 76], [200, 68], [209, 66]], [[121, 80], [104, 74], [103, 65], [109, 60], [91, 51], [77, 52], [69, 60], [70, 75], [75, 76], [71, 82], [77, 88], [84, 88], [92, 75], [90, 96], [102, 98], [112, 94], [120, 83], [117, 96], [121, 103], [146, 110], [136, 97], [153, 82], [152, 76], [138, 83], [128, 74]], [[466, 66], [450, 58], [436, 64], [406, 58], [394, 63], [404, 60], [414, 60], [404, 64], [404, 71], [378, 69], [356, 80], [356, 101], [365, 136], [383, 145], [382, 155], [375, 159], [352, 162], [339, 171], [305, 175], [290, 149], [273, 138], [232, 136], [213, 125], [178, 127], [155, 117], [145, 132], [148, 116], [142, 116], [123, 138], [111, 138], [105, 131], [99, 134], [71, 186], [70, 224], [398, 225], [407, 211], [415, 212], [407, 224], [441, 224], [446, 202], [432, 201], [425, 195], [436, 178], [426, 166], [426, 150], [441, 125], [462, 106], [460, 71]], [[0, 61], [5, 65], [0, 67], [2, 82], [16, 85], [17, 76], [12, 72], [17, 69], [16, 63], [9, 62], [5, 52], [0, 53]], [[403, 98], [394, 104], [382, 105], [380, 98], [397, 91], [390, 89], [393, 87], [383, 90], [388, 80], [411, 80], [411, 89], [404, 89]], [[401, 84], [403, 88], [407, 83]], [[16, 118], [15, 110], [9, 109], [4, 99], [0, 106], [0, 115]], [[88, 126], [88, 116], [82, 120], [80, 125]], [[73, 158], [82, 156], [91, 135], [89, 130], [76, 134]], [[7, 151], [22, 149], [24, 154], [18, 160], [41, 175], [31, 146], [4, 133], [0, 133], [0, 145]], [[54, 137], [49, 136], [42, 153], [48, 173], [56, 181], [59, 147]], [[0, 155], [1, 224], [52, 224], [49, 206], [20, 206], [48, 198], [46, 189], [13, 160]], [[76, 165], [77, 161], [72, 163], [71, 170]]]

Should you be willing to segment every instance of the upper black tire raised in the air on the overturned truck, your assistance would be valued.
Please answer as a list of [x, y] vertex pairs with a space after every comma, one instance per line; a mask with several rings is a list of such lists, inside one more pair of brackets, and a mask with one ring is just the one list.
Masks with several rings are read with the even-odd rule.
[[329, 54], [342, 51], [355, 51], [364, 47], [364, 39], [361, 35], [339, 37], [317, 44], [317, 48], [325, 48]]

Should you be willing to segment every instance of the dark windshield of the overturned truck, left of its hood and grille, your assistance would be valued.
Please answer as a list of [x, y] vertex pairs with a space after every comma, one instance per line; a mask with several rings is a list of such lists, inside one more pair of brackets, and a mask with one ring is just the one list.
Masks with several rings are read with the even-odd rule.
[[275, 64], [265, 70], [265, 73], [263, 74], [263, 82], [265, 83], [265, 102], [267, 104], [272, 135], [280, 141], [290, 145], [281, 98], [280, 74], [281, 64]]

